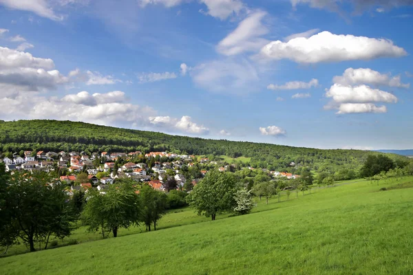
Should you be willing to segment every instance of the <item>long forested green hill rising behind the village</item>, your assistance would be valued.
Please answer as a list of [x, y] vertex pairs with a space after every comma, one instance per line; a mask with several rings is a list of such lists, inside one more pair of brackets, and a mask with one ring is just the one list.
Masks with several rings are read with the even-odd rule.
[[[83, 122], [57, 120], [0, 121], [0, 151], [176, 151], [193, 155], [252, 157], [254, 167], [283, 168], [290, 162], [314, 170], [356, 168], [372, 152], [321, 150], [275, 144], [205, 140], [198, 137], [167, 135], [150, 131], [119, 129]], [[375, 153], [372, 153], [375, 154]], [[268, 167], [272, 166], [272, 167]]]

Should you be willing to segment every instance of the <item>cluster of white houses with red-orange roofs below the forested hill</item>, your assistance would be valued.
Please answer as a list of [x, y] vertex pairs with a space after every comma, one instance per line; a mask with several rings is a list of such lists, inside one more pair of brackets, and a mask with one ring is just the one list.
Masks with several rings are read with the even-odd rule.
[[[131, 162], [134, 157], [138, 155], [143, 155], [140, 151], [131, 153], [92, 153], [87, 155], [85, 152], [77, 153], [70, 152], [66, 153], [61, 151], [59, 153], [38, 151], [33, 153], [32, 151], [25, 151], [24, 157], [20, 155], [13, 155], [12, 158], [3, 158], [4, 164], [6, 164], [6, 170], [28, 170], [34, 172], [36, 170], [45, 170], [50, 172], [56, 168], [65, 168], [72, 175], [63, 175], [60, 177], [61, 182], [65, 182], [72, 187], [67, 192], [72, 194], [73, 190], [88, 190], [89, 188], [96, 188], [99, 192], [105, 192], [105, 188], [109, 184], [113, 184], [116, 179], [129, 178], [134, 181], [145, 181], [155, 189], [165, 190], [163, 184], [168, 179], [173, 177], [178, 188], [184, 186], [187, 179], [182, 175], [181, 167], [186, 164], [189, 167], [195, 166], [195, 155], [178, 155], [176, 153], [167, 152], [150, 152], [146, 153], [145, 157], [151, 159], [162, 157], [162, 162], [153, 162], [153, 166], [150, 168], [145, 163]], [[99, 162], [94, 162], [95, 159], [99, 159]], [[115, 171], [115, 162], [117, 159], [122, 159], [122, 165], [118, 165], [118, 169]], [[1, 160], [1, 159], [0, 159]], [[167, 161], [165, 161], [167, 160]], [[103, 164], [101, 162], [104, 162]], [[200, 164], [211, 164], [217, 165], [218, 162], [211, 162], [207, 157], [202, 157], [199, 161]], [[231, 170], [234, 165], [226, 165], [218, 167], [221, 172]], [[251, 170], [255, 168], [248, 167]], [[266, 169], [263, 169], [266, 170]], [[75, 186], [73, 183], [76, 181], [76, 175], [81, 171], [87, 171], [88, 183], [82, 183], [79, 186]], [[170, 173], [173, 171], [173, 173]], [[108, 177], [96, 177], [99, 172], [105, 172]], [[169, 172], [169, 173], [168, 173]], [[299, 175], [293, 175], [291, 173], [280, 173], [277, 171], [268, 171], [275, 178], [286, 178], [286, 179], [296, 179]], [[202, 177], [207, 175], [207, 170], [200, 170]], [[192, 181], [192, 184], [196, 184], [198, 180]]]

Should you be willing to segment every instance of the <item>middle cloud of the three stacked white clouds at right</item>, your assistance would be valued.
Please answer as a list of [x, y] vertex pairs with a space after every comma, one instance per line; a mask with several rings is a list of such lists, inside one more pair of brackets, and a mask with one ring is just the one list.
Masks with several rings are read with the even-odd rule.
[[393, 94], [372, 89], [367, 85], [352, 87], [336, 83], [330, 89], [326, 89], [326, 97], [341, 103], [397, 102], [397, 98]]

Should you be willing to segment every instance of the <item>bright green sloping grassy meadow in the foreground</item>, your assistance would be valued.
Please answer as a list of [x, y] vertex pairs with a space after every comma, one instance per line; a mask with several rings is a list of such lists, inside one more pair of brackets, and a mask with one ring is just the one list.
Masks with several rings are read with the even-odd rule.
[[412, 187], [405, 177], [293, 192], [217, 221], [186, 209], [156, 232], [2, 258], [0, 274], [413, 274]]

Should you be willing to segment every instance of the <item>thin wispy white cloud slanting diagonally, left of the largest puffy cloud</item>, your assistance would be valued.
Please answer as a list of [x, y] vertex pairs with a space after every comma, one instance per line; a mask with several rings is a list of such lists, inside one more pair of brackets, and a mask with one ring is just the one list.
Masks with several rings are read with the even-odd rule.
[[254, 12], [241, 21], [237, 28], [218, 43], [217, 50], [227, 56], [260, 50], [268, 41], [260, 36], [268, 33], [262, 25], [266, 12]]

